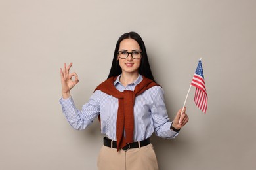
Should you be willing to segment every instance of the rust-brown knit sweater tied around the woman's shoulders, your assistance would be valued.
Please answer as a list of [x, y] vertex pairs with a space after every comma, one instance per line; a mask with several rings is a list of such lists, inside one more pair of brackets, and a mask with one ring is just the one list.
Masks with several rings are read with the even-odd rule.
[[[133, 106], [135, 104], [135, 97], [140, 95], [145, 90], [152, 88], [153, 86], [160, 86], [153, 80], [143, 76], [143, 80], [137, 84], [134, 91], [124, 90], [119, 92], [114, 86], [116, 77], [108, 78], [102, 82], [96, 89], [102, 92], [112, 95], [118, 99], [118, 110], [117, 110], [117, 124], [116, 124], [116, 139], [117, 139], [117, 151], [120, 148], [126, 146], [127, 143], [133, 143], [133, 131], [134, 131], [134, 115]], [[100, 115], [99, 115], [100, 120]], [[124, 137], [125, 131], [125, 137]]]

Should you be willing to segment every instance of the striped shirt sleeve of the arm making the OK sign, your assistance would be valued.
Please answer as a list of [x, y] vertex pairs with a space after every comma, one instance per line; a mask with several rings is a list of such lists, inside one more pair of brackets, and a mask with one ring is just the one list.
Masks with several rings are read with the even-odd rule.
[[100, 114], [100, 91], [97, 90], [91, 95], [88, 103], [83, 105], [82, 110], [78, 110], [75, 107], [72, 97], [60, 99], [60, 104], [70, 126], [74, 129], [82, 130], [89, 126]]

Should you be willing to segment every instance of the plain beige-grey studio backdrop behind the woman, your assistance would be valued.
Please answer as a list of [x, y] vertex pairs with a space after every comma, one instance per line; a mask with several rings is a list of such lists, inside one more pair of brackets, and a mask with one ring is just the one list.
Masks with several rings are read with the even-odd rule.
[[60, 67], [73, 62], [81, 109], [106, 80], [120, 35], [136, 31], [174, 118], [202, 58], [208, 110], [186, 103], [174, 140], [152, 135], [161, 170], [256, 169], [256, 1], [0, 1], [0, 169], [96, 169], [98, 120], [62, 114]]

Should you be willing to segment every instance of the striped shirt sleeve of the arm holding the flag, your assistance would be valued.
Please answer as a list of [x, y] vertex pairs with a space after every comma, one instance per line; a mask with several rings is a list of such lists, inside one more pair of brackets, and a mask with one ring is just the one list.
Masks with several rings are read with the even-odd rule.
[[179, 133], [170, 129], [173, 122], [170, 121], [167, 114], [163, 88], [158, 86], [155, 94], [154, 105], [151, 109], [152, 119], [154, 122], [154, 131], [158, 137], [162, 137], [164, 139], [173, 139]]

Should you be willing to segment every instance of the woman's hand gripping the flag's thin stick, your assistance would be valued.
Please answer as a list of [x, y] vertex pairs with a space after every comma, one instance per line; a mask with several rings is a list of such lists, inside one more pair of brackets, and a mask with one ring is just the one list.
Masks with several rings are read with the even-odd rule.
[[181, 129], [181, 127], [185, 126], [186, 123], [188, 123], [188, 115], [186, 114], [186, 107], [184, 107], [184, 110], [183, 110], [183, 113], [181, 114], [182, 112], [182, 109], [180, 109], [174, 120], [173, 120], [173, 124], [172, 126], [175, 128], [175, 129]]

